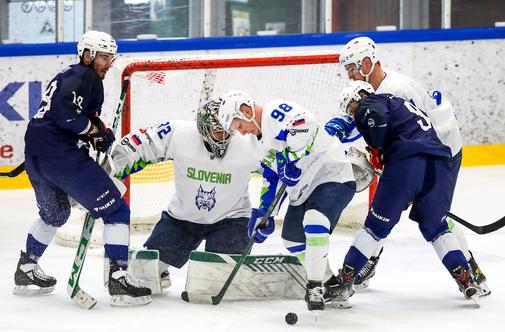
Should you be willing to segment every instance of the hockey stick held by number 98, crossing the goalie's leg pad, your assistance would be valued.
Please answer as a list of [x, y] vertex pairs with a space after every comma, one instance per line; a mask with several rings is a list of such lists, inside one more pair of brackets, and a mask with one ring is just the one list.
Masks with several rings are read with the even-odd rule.
[[[270, 215], [272, 214], [272, 212], [276, 208], [277, 204], [281, 200], [281, 197], [284, 195], [284, 191], [286, 191], [286, 187], [287, 187], [287, 185], [285, 183], [283, 183], [282, 186], [279, 188], [279, 191], [277, 191], [277, 194], [275, 194], [272, 204], [270, 204], [270, 206], [268, 207], [267, 212], [265, 213], [265, 215], [261, 219], [258, 226], [256, 226], [256, 229], [258, 229], [258, 227], [260, 227], [260, 226], [265, 225], [268, 222], [268, 218], [270, 218]], [[207, 304], [213, 304], [213, 305], [219, 304], [221, 302], [221, 300], [223, 299], [224, 294], [226, 293], [226, 291], [230, 287], [231, 282], [235, 278], [235, 275], [237, 274], [238, 270], [240, 269], [242, 264], [244, 264], [244, 261], [247, 258], [247, 256], [251, 253], [251, 249], [252, 249], [253, 244], [254, 244], [254, 236], [247, 243], [247, 247], [245, 248], [244, 253], [242, 254], [242, 256], [240, 256], [239, 260], [237, 261], [237, 264], [235, 264], [235, 267], [231, 271], [230, 276], [228, 277], [228, 279], [226, 279], [226, 281], [223, 285], [223, 288], [221, 288], [221, 290], [219, 291], [219, 293], [217, 293], [217, 295], [212, 296], [212, 295], [206, 295], [206, 294], [190, 294], [186, 291], [183, 291], [181, 293], [181, 298], [186, 302], [207, 303]]]

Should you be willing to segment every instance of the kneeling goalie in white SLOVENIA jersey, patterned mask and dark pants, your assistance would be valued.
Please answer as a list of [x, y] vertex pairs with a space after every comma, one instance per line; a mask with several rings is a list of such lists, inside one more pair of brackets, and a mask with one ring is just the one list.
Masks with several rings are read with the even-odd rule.
[[204, 239], [206, 251], [225, 254], [242, 254], [248, 242], [248, 186], [251, 172], [260, 169], [261, 148], [255, 137], [232, 137], [221, 127], [219, 105], [202, 104], [196, 123], [170, 121], [132, 132], [112, 152], [122, 179], [173, 160], [175, 193], [144, 244], [159, 251], [162, 287], [170, 285], [167, 267], [181, 268]]

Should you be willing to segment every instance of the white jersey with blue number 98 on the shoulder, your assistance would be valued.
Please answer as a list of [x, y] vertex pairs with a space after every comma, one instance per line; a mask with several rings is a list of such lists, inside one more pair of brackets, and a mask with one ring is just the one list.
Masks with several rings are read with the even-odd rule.
[[261, 131], [264, 165], [277, 172], [275, 154], [281, 151], [289, 151], [289, 159], [298, 160], [300, 181], [286, 189], [291, 205], [302, 204], [322, 183], [354, 181], [342, 143], [330, 136], [301, 105], [286, 100], [270, 101], [263, 108]]

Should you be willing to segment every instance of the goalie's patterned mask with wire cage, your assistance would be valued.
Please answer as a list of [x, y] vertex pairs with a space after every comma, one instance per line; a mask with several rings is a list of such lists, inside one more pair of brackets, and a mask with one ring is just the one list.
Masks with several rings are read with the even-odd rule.
[[200, 105], [196, 114], [198, 132], [209, 152], [217, 158], [226, 154], [231, 135], [219, 123], [218, 114], [221, 99], [210, 100]]

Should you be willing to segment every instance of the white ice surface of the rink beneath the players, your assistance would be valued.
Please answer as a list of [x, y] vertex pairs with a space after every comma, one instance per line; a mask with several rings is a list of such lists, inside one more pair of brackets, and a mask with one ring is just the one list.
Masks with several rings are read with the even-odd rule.
[[[463, 168], [452, 211], [483, 225], [505, 214], [505, 166]], [[429, 208], [429, 207], [426, 207]], [[81, 287], [98, 304], [86, 311], [66, 294], [66, 281], [75, 249], [52, 244], [41, 259], [44, 271], [58, 279], [53, 294], [18, 297], [12, 294], [13, 275], [24, 248], [26, 232], [37, 209], [31, 190], [0, 191], [0, 331], [504, 331], [505, 228], [487, 235], [464, 229], [470, 249], [488, 278], [492, 294], [480, 308], [463, 298], [416, 224], [404, 214], [386, 243], [370, 287], [351, 298], [351, 309], [328, 308], [314, 318], [301, 300], [230, 301], [217, 306], [183, 302], [186, 269], [171, 269], [172, 286], [147, 306], [115, 308], [102, 284], [101, 249], [88, 252]], [[140, 246], [145, 235], [132, 237]], [[351, 234], [334, 233], [330, 261], [338, 269], [352, 241]], [[254, 253], [285, 253], [280, 230]], [[298, 323], [284, 321], [287, 312]]]

